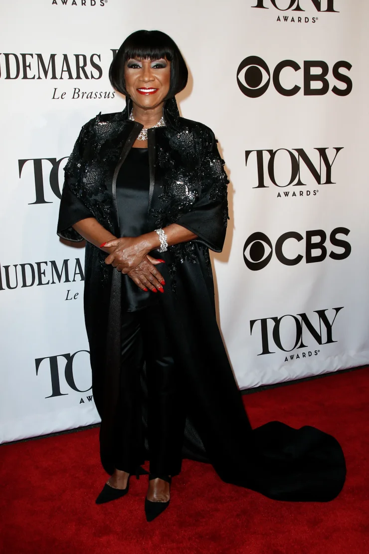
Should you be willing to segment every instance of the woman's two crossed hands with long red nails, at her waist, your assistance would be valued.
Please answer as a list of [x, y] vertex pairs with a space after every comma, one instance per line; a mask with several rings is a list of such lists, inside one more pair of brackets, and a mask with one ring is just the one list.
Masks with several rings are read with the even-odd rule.
[[164, 260], [153, 258], [148, 254], [155, 245], [146, 237], [147, 235], [141, 235], [141, 237], [108, 240], [104, 248], [110, 249], [111, 252], [105, 259], [105, 263], [128, 275], [140, 289], [144, 291], [150, 289], [153, 293], [159, 290], [160, 293], [164, 293], [165, 281], [156, 268]]

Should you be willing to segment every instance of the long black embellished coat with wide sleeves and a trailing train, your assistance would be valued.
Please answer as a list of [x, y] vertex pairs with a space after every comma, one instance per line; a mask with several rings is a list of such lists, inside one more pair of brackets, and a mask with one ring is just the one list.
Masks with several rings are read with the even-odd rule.
[[[95, 217], [119, 236], [116, 178], [142, 125], [123, 112], [97, 115], [82, 127], [65, 167], [58, 234]], [[227, 225], [224, 161], [214, 133], [179, 116], [175, 99], [164, 107], [165, 127], [148, 130], [150, 189], [148, 229], [178, 223], [198, 238], [160, 257], [177, 371], [186, 398], [184, 457], [210, 461], [221, 479], [277, 500], [334, 498], [345, 481], [339, 443], [313, 427], [271, 422], [251, 428], [215, 317], [209, 249], [221, 252]], [[100, 452], [112, 473], [112, 430], [121, 371], [121, 274], [90, 243], [85, 257], [85, 321], [90, 343], [92, 392], [101, 416]], [[124, 371], [124, 368], [122, 369]], [[145, 383], [143, 379], [143, 389]], [[143, 414], [144, 414], [143, 408]]]

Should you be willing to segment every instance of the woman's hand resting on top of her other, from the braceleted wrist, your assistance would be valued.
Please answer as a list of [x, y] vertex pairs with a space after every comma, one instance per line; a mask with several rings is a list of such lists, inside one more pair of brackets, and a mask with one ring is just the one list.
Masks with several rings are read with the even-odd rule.
[[105, 259], [106, 264], [111, 264], [118, 271], [127, 274], [144, 259], [153, 249], [149, 240], [141, 237], [123, 237], [108, 240], [104, 248], [113, 248], [113, 251]]

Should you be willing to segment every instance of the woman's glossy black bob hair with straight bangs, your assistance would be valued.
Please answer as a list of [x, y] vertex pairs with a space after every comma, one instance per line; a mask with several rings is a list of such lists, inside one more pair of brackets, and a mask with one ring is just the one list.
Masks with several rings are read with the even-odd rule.
[[173, 98], [187, 84], [188, 69], [174, 40], [162, 31], [139, 30], [124, 40], [109, 69], [109, 79], [115, 90], [129, 96], [124, 81], [124, 66], [131, 58], [170, 61], [170, 86], [167, 99]]

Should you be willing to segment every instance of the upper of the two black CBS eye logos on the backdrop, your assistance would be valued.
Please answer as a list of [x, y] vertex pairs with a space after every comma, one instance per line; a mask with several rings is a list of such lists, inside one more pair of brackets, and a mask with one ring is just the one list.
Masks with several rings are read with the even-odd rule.
[[[348, 61], [337, 61], [332, 67], [332, 76], [340, 83], [344, 83], [346, 88], [339, 88], [334, 85], [331, 88], [332, 93], [337, 96], [347, 96], [352, 90], [352, 81], [348, 75], [341, 73], [340, 69], [350, 71], [352, 65]], [[303, 87], [294, 85], [290, 89], [286, 89], [280, 83], [280, 75], [283, 70], [293, 70], [295, 73], [301, 69], [297, 61], [283, 60], [280, 61], [273, 70], [273, 75], [269, 70], [266, 62], [258, 56], [248, 56], [241, 61], [237, 69], [237, 84], [241, 92], [248, 98], [259, 98], [269, 88], [271, 80], [274, 88], [283, 96], [294, 96], [303, 88], [304, 96], [323, 96], [330, 89], [330, 84], [326, 78], [329, 74], [329, 66], [325, 61], [321, 60], [306, 60], [304, 61], [303, 69]], [[318, 85], [313, 86], [313, 83]]]

